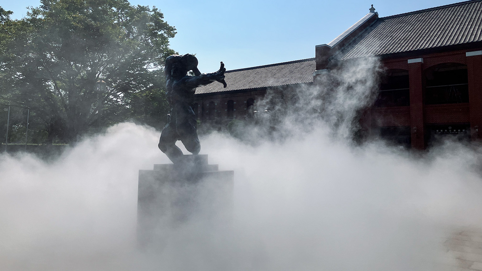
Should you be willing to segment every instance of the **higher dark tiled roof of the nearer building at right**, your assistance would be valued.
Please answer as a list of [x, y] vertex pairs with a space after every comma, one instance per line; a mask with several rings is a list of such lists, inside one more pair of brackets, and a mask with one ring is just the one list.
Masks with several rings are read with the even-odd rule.
[[378, 18], [333, 56], [344, 60], [482, 41], [482, 0]]

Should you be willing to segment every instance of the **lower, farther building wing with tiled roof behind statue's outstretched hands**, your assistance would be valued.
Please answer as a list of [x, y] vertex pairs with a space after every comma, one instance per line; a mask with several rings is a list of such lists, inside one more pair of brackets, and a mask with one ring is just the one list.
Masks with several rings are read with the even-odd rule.
[[219, 82], [198, 87], [193, 109], [201, 122], [209, 124], [225, 125], [233, 119], [249, 121], [258, 113], [256, 110], [269, 109], [255, 106], [267, 92], [279, 92], [282, 86], [310, 84], [314, 71], [315, 58], [228, 70], [228, 87], [223, 88]]

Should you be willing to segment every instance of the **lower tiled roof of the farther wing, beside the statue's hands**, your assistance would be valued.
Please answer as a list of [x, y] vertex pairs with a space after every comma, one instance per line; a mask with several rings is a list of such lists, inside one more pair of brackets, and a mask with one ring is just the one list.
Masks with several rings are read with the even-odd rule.
[[315, 67], [315, 59], [308, 58], [228, 70], [225, 73], [227, 88], [223, 88], [223, 84], [220, 82], [212, 82], [209, 85], [198, 87], [195, 94], [312, 82]]

